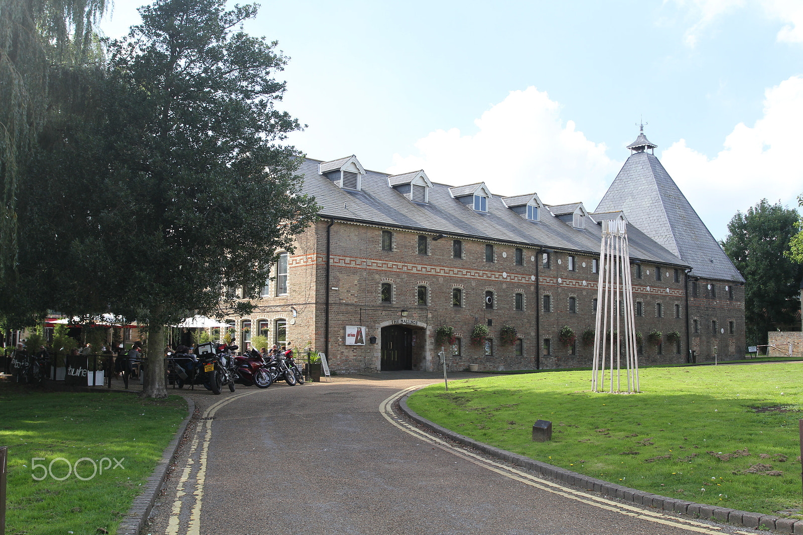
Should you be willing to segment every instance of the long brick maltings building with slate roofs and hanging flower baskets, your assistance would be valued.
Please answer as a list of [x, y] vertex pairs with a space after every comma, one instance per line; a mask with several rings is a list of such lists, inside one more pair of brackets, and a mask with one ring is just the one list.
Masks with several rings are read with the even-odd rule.
[[[436, 370], [435, 331], [454, 329], [451, 370], [591, 366], [602, 218], [628, 221], [642, 364], [744, 357], [744, 280], [643, 133], [596, 213], [452, 187], [423, 170], [365, 170], [357, 157], [305, 159], [320, 220], [283, 253], [258, 311], [230, 324], [328, 355], [341, 371]], [[475, 325], [488, 337], [471, 344]], [[504, 345], [503, 326], [516, 329]], [[569, 326], [574, 345], [558, 341]], [[662, 333], [659, 345], [647, 341]], [[675, 333], [671, 336], [670, 333]], [[715, 349], [716, 348], [716, 349]]]

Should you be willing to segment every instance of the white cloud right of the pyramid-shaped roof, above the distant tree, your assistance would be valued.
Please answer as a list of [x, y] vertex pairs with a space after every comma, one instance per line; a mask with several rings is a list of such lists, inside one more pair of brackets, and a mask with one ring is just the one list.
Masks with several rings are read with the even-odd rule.
[[764, 92], [764, 116], [752, 127], [740, 123], [709, 158], [681, 139], [661, 153], [661, 162], [717, 239], [727, 234], [736, 210], [761, 198], [797, 207], [803, 193], [803, 77], [793, 76]]

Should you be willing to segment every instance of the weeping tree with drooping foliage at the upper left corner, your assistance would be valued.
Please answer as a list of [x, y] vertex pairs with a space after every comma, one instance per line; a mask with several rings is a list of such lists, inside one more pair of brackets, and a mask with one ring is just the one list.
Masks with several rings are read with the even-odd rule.
[[94, 26], [106, 6], [105, 0], [0, 4], [0, 283], [14, 276], [17, 263], [26, 159], [47, 115], [75, 90], [70, 73], [96, 61]]

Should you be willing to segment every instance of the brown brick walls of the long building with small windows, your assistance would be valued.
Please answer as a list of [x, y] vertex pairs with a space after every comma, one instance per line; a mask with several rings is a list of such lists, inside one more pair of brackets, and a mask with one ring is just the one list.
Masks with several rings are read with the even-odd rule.
[[[393, 321], [414, 322], [414, 369], [439, 369], [435, 329], [440, 325], [454, 328], [460, 339], [460, 351], [453, 355], [446, 348], [450, 370], [464, 370], [469, 364], [480, 370], [534, 369], [538, 350], [544, 340], [550, 341], [550, 351], [541, 349], [541, 368], [590, 367], [593, 345], [583, 345], [585, 329], [594, 329], [593, 299], [597, 297], [597, 273], [592, 272], [592, 257], [575, 255], [575, 270], [568, 269], [569, 253], [552, 252], [548, 269], [540, 267], [540, 297], [536, 297], [537, 252], [532, 247], [520, 247], [523, 265], [516, 265], [516, 246], [472, 239], [461, 239], [463, 258], [453, 258], [452, 238], [433, 241], [427, 236], [426, 255], [418, 253], [418, 233], [392, 230], [393, 249], [382, 250], [382, 229], [354, 223], [336, 222], [331, 235], [331, 273], [326, 288], [326, 226], [316, 223], [296, 239], [296, 252], [290, 257], [287, 296], [269, 296], [259, 301], [259, 312], [249, 319], [258, 325], [260, 319], [271, 322], [286, 318], [287, 339], [296, 347], [312, 345], [324, 350], [326, 292], [329, 292], [329, 350], [333, 370], [375, 371], [381, 367], [381, 328]], [[493, 245], [493, 262], [486, 262], [486, 245]], [[634, 301], [642, 303], [643, 315], [636, 317], [636, 329], [644, 337], [642, 365], [685, 362], [686, 308], [683, 271], [675, 283], [674, 267], [662, 267], [662, 280], [655, 280], [654, 265], [642, 265], [642, 279], [634, 278]], [[649, 274], [648, 274], [649, 272]], [[668, 276], [667, 276], [668, 273]], [[744, 355], [744, 292], [734, 288], [734, 300], [728, 299], [722, 281], [716, 299], [699, 296], [690, 299], [690, 316], [698, 319], [699, 333], [691, 335], [691, 345], [698, 350], [698, 361], [713, 359], [713, 348], [719, 346], [719, 356]], [[390, 303], [381, 302], [381, 284], [392, 285]], [[271, 283], [273, 284], [273, 283]], [[699, 282], [702, 284], [702, 281]], [[418, 286], [426, 287], [427, 304], [418, 304]], [[271, 286], [271, 288], [273, 288]], [[452, 305], [452, 290], [463, 292], [462, 306]], [[699, 288], [702, 288], [700, 286]], [[485, 306], [485, 292], [492, 292], [493, 308]], [[522, 310], [516, 310], [516, 293], [523, 296]], [[544, 295], [550, 297], [548, 312], [544, 312]], [[576, 312], [569, 312], [573, 297]], [[656, 304], [662, 305], [658, 317]], [[675, 317], [675, 305], [680, 317]], [[292, 321], [292, 308], [297, 315]], [[540, 340], [536, 338], [536, 308], [540, 308]], [[407, 311], [402, 318], [402, 310]], [[710, 327], [711, 318], [724, 329], [716, 337]], [[240, 320], [245, 319], [241, 318]], [[492, 354], [487, 356], [483, 346], [471, 345], [471, 329], [475, 323], [487, 325], [491, 333]], [[728, 321], [734, 322], [734, 334], [729, 334]], [[503, 346], [499, 341], [502, 325], [516, 327], [521, 338], [521, 354], [516, 346]], [[239, 325], [239, 324], [238, 324]], [[365, 326], [365, 346], [345, 345], [346, 325]], [[577, 334], [574, 348], [558, 341], [560, 329], [568, 325]], [[708, 325], [708, 329], [705, 329]], [[646, 341], [653, 330], [664, 335], [661, 350]], [[680, 351], [675, 343], [666, 341], [666, 333], [681, 335]], [[271, 337], [274, 333], [271, 331]], [[370, 344], [376, 337], [376, 344]], [[725, 349], [723, 349], [725, 348]]]

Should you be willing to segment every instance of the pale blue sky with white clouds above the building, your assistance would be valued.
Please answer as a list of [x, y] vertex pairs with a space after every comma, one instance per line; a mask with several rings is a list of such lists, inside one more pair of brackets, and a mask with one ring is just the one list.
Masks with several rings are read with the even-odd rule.
[[308, 157], [594, 210], [643, 121], [716, 239], [803, 194], [803, 0], [265, 1], [244, 29], [289, 58]]

